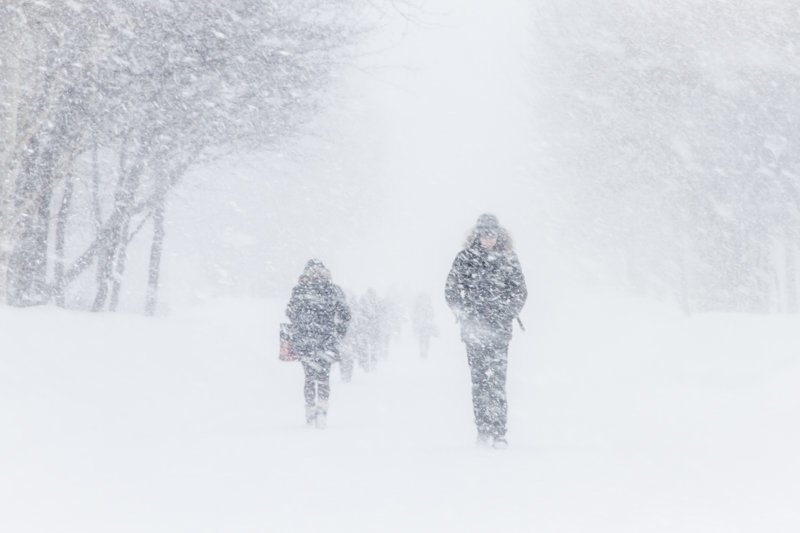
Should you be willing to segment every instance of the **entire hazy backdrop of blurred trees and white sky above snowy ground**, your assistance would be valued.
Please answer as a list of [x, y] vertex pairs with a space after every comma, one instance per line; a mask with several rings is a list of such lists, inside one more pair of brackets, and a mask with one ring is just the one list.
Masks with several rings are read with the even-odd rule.
[[10, 303], [438, 295], [492, 212], [545, 299], [797, 310], [791, 2], [176, 6], [4, 7]]

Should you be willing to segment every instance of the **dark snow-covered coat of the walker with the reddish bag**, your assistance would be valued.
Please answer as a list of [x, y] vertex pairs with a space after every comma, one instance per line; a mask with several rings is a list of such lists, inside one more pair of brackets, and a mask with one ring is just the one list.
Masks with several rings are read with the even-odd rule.
[[328, 352], [335, 358], [347, 332], [350, 308], [344, 292], [325, 276], [303, 275], [286, 307], [293, 348], [301, 358]]

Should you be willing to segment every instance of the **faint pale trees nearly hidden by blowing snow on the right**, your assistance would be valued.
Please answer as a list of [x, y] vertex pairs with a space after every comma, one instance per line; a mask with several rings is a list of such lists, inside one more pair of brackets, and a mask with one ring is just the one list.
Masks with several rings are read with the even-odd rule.
[[690, 311], [796, 312], [800, 10], [565, 0], [532, 20], [534, 120], [583, 249]]

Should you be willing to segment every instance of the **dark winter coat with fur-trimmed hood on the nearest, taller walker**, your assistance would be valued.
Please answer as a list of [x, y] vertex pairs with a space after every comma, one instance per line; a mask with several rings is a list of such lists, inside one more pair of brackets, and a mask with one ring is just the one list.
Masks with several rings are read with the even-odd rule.
[[447, 276], [445, 298], [465, 342], [487, 336], [510, 340], [512, 322], [527, 297], [525, 276], [506, 235], [492, 250], [483, 249], [474, 237], [456, 256]]

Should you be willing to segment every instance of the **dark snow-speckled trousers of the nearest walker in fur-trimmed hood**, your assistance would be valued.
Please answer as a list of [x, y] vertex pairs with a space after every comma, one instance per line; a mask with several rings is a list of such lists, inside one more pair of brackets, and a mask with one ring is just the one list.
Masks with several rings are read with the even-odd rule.
[[468, 342], [466, 346], [472, 377], [472, 408], [478, 433], [495, 438], [504, 437], [508, 416], [508, 342], [492, 339]]

